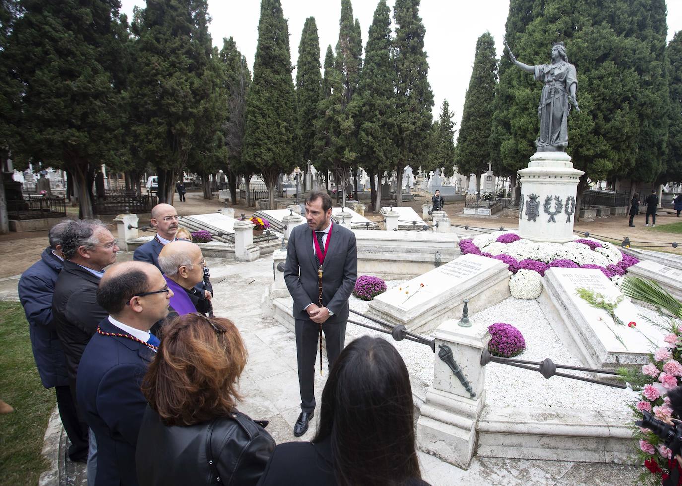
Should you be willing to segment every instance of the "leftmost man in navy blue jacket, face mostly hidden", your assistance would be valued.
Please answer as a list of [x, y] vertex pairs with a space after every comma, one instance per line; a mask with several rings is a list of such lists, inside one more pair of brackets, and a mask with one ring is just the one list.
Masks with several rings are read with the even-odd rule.
[[40, 380], [45, 388], [54, 388], [57, 395], [59, 417], [66, 435], [71, 440], [69, 457], [72, 461], [87, 461], [87, 429], [78, 420], [78, 410], [69, 388], [64, 352], [59, 345], [52, 314], [52, 295], [55, 282], [61, 271], [62, 234], [71, 221], [57, 223], [48, 232], [50, 246], [42, 252], [35, 262], [21, 275], [19, 280], [19, 299], [29, 322], [33, 358], [38, 367]]

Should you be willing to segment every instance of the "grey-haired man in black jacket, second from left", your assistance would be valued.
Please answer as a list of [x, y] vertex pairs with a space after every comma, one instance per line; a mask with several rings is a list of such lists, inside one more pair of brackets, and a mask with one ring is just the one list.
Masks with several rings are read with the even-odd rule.
[[[104, 276], [104, 267], [116, 261], [119, 247], [111, 232], [97, 220], [76, 220], [64, 229], [61, 239], [63, 268], [55, 282], [52, 314], [59, 344], [66, 359], [69, 386], [76, 403], [76, 376], [83, 356], [97, 324], [107, 316], [97, 301], [97, 286]], [[78, 404], [76, 403], [76, 408]], [[83, 430], [85, 417], [78, 408]], [[93, 436], [89, 440], [88, 477], [94, 481], [97, 446]]]

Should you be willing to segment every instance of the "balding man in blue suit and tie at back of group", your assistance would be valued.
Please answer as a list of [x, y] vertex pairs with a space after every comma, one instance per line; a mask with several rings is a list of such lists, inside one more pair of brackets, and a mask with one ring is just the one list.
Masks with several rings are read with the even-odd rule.
[[[173, 206], [170, 204], [156, 204], [151, 209], [151, 226], [156, 228], [156, 235], [153, 239], [136, 249], [132, 259], [138, 262], [151, 263], [163, 271], [159, 266], [159, 255], [165, 245], [176, 241], [175, 234], [177, 233], [179, 221], [180, 216]], [[202, 285], [200, 280], [196, 284], [196, 291], [203, 294], [209, 300], [213, 297], [213, 286], [211, 286], [210, 280], [207, 280], [205, 286]]]

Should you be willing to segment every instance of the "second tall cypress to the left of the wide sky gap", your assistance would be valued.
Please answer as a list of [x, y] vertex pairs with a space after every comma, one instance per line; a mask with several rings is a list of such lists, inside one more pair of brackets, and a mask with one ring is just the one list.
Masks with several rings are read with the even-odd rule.
[[374, 211], [381, 209], [381, 191], [374, 176], [381, 177], [391, 169], [394, 157], [395, 72], [391, 63], [391, 11], [386, 0], [379, 1], [370, 26], [365, 63], [360, 74], [353, 112], [359, 132], [358, 163], [370, 176]]

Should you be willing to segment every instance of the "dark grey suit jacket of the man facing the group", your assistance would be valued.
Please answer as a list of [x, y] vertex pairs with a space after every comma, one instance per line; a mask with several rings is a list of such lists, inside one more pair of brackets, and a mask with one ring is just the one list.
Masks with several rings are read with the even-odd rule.
[[[295, 319], [310, 320], [306, 306], [311, 302], [318, 305], [318, 267], [312, 238], [307, 224], [296, 226], [289, 237], [284, 281], [294, 299]], [[331, 228], [322, 271], [322, 303], [334, 313], [326, 322], [345, 322], [349, 316], [348, 299], [357, 280], [357, 244], [355, 233], [341, 224], [333, 224]]]

